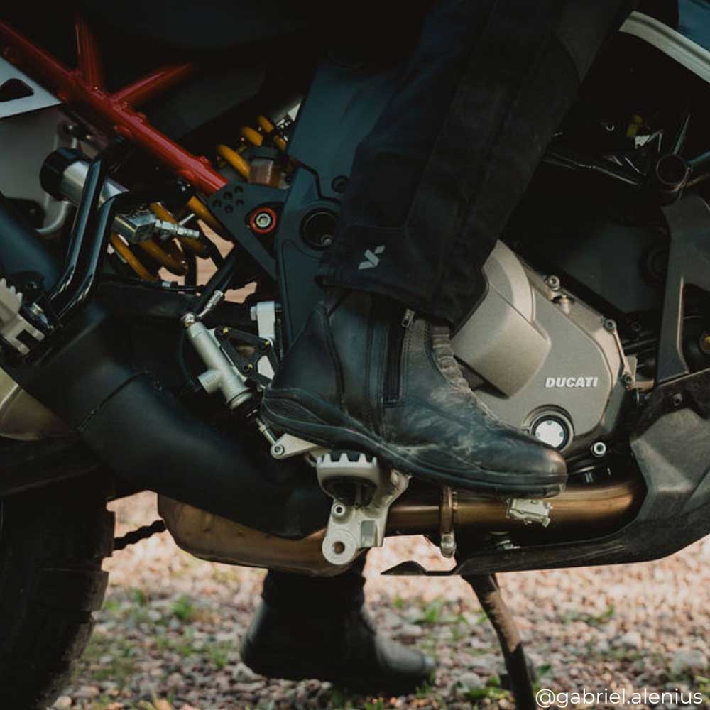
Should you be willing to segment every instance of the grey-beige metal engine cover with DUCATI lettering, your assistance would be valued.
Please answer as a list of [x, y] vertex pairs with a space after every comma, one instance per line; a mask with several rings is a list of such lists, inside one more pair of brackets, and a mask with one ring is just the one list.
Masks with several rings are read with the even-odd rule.
[[566, 455], [608, 436], [626, 389], [604, 317], [551, 288], [502, 242], [484, 275], [488, 292], [454, 337], [457, 357], [484, 381], [476, 395]]

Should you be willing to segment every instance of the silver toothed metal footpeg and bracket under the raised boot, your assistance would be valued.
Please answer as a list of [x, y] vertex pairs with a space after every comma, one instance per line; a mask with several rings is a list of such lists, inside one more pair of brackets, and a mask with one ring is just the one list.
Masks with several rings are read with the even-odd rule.
[[348, 564], [361, 550], [381, 547], [390, 506], [410, 477], [359, 452], [324, 454], [316, 470], [321, 488], [334, 498], [322, 544], [325, 559]]

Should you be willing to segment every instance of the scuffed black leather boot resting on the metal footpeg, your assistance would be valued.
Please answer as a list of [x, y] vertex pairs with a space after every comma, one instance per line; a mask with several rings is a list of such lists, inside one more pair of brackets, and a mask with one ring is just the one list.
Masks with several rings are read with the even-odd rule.
[[315, 307], [262, 414], [275, 429], [456, 488], [543, 498], [567, 480], [559, 452], [476, 398], [447, 325], [370, 293], [333, 291]]

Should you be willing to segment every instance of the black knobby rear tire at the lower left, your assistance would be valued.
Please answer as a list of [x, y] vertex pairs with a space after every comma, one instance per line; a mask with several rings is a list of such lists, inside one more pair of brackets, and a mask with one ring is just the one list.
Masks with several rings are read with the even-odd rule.
[[52, 704], [87, 645], [113, 550], [106, 501], [91, 476], [0, 501], [0, 708]]

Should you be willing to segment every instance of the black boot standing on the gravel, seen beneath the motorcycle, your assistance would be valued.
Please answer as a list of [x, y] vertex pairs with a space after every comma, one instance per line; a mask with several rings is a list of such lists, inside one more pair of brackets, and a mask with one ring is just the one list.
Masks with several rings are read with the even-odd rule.
[[432, 658], [377, 633], [364, 606], [313, 616], [262, 602], [240, 655], [260, 675], [316, 678], [368, 694], [408, 694], [435, 670]]

